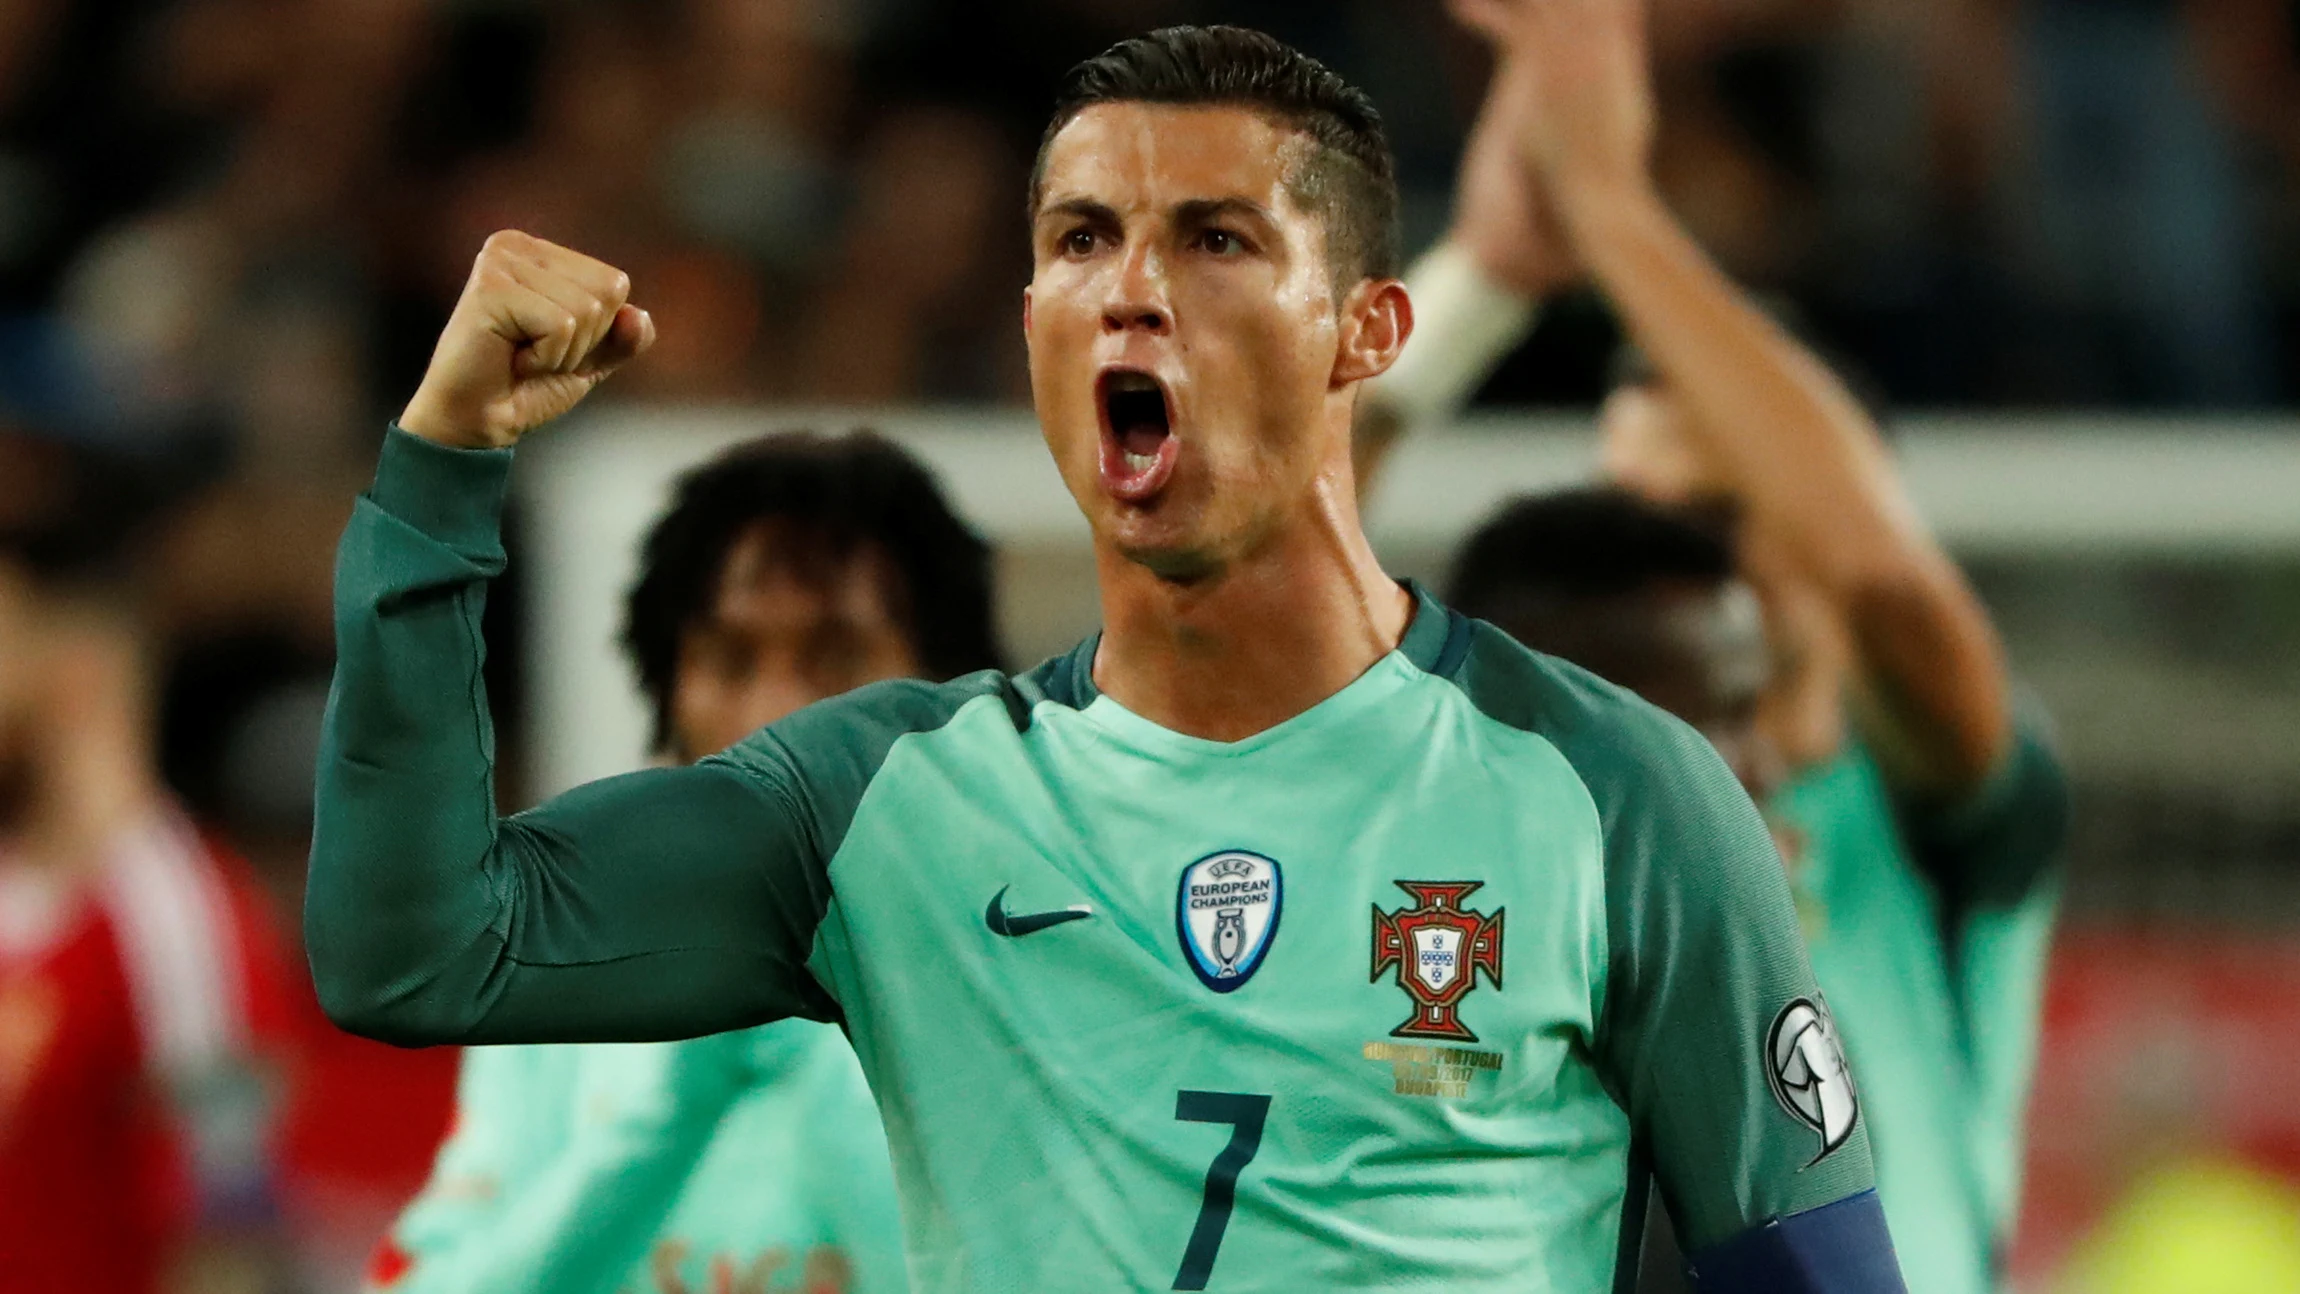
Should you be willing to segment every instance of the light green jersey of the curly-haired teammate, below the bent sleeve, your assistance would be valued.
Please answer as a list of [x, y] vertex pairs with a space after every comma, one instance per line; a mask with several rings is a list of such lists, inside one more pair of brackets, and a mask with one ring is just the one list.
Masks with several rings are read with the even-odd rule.
[[906, 1287], [879, 1112], [810, 1020], [467, 1050], [455, 1131], [391, 1243], [391, 1294], [708, 1289], [713, 1260], [761, 1289]]

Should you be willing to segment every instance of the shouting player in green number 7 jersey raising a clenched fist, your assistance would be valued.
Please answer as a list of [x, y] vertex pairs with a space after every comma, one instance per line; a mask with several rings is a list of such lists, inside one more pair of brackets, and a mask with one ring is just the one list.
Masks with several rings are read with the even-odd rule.
[[1366, 97], [1258, 32], [1122, 41], [1065, 80], [1028, 209], [1104, 630], [511, 818], [474, 637], [508, 448], [651, 322], [490, 239], [343, 542], [334, 1016], [842, 1020], [922, 1289], [1603, 1289], [1649, 1172], [1704, 1289], [1900, 1289], [1748, 795], [1373, 559], [1350, 418], [1412, 308]]

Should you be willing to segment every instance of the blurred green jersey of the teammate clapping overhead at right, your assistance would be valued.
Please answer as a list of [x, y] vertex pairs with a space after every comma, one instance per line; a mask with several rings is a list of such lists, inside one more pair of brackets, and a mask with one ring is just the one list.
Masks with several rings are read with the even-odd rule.
[[1897, 802], [1856, 747], [1771, 811], [1909, 1289], [1994, 1289], [2058, 896], [2061, 768], [2024, 717], [2003, 768], [1962, 804]]

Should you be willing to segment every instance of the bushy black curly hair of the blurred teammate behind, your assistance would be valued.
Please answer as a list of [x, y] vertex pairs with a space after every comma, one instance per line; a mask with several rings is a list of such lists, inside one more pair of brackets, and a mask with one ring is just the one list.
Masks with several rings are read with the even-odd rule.
[[888, 609], [927, 678], [1005, 669], [991, 549], [925, 464], [876, 432], [759, 437], [681, 476], [639, 549], [623, 650], [656, 710], [658, 747], [672, 735], [678, 641], [718, 604], [727, 554], [768, 522], [789, 531], [800, 575], [865, 549], [883, 556], [899, 581]]

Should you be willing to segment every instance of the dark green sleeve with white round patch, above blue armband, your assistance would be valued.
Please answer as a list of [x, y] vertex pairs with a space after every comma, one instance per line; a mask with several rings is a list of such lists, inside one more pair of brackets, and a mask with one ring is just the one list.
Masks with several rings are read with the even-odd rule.
[[[1477, 634], [1472, 696], [1546, 735], [1596, 800], [1608, 926], [1596, 1062], [1686, 1253], [1870, 1191], [1842, 1076], [1776, 1094], [1776, 1078], [1810, 1078], [1796, 1055], [1833, 1060], [1833, 1025], [1780, 855], [1725, 761], [1628, 692], [1486, 625]], [[1776, 1025], [1792, 1053], [1778, 1069]], [[1801, 1039], [1812, 1025], [1822, 1034]], [[1824, 1096], [1826, 1085], [1838, 1089]]]

